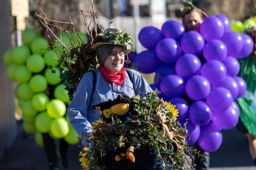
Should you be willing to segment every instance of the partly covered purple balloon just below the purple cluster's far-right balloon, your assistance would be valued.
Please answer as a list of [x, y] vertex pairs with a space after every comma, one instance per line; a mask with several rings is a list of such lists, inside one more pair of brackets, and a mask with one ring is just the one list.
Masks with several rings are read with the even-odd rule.
[[234, 77], [240, 71], [240, 64], [234, 57], [226, 57], [222, 63], [226, 66], [228, 76]]

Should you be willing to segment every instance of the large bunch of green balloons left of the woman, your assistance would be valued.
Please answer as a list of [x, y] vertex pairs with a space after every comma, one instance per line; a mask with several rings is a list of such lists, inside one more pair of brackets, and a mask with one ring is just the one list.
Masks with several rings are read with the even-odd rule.
[[[77, 32], [77, 35], [80, 40], [87, 41], [87, 36], [83, 33]], [[71, 34], [69, 36], [72, 43], [78, 42], [76, 37]], [[18, 82], [14, 93], [22, 110], [24, 131], [34, 133], [35, 142], [39, 146], [44, 145], [42, 133], [76, 144], [78, 135], [65, 116], [70, 100], [57, 69], [60, 56], [48, 50], [48, 41], [35, 29], [26, 29], [22, 34], [22, 41], [24, 45], [8, 49], [2, 59], [7, 66], [6, 76]], [[71, 45], [64, 33], [62, 41]], [[63, 53], [63, 48], [57, 52]]]

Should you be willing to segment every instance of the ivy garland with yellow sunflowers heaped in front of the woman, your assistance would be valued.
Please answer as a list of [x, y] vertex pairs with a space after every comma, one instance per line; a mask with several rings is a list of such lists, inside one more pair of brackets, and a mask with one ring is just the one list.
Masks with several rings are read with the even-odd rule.
[[[135, 151], [141, 146], [152, 147], [151, 152], [156, 154], [155, 166], [164, 170], [185, 170], [192, 167], [192, 150], [186, 140], [175, 138], [182, 148], [178, 150], [174, 143], [170, 142], [167, 135], [162, 137], [161, 125], [157, 122], [155, 110], [160, 106], [161, 113], [166, 115], [165, 124], [177, 135], [186, 137], [187, 130], [182, 128], [176, 121], [177, 109], [170, 103], [163, 103], [157, 97], [159, 92], [154, 91], [147, 94], [144, 98], [132, 98], [134, 110], [137, 115], [132, 117], [130, 125], [122, 123], [118, 116], [112, 115], [112, 123], [108, 124], [102, 119], [92, 123], [95, 130], [93, 141], [94, 145], [90, 149], [84, 148], [80, 152], [80, 162], [84, 170], [104, 169], [103, 157], [109, 150], [121, 147], [122, 143], [131, 141]], [[171, 109], [171, 110], [170, 110]], [[128, 114], [128, 113], [126, 113]]]

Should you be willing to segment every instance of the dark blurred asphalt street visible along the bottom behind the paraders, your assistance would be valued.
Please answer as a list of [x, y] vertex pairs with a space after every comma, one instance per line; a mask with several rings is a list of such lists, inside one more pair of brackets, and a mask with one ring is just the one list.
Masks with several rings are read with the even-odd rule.
[[[256, 170], [248, 151], [245, 135], [236, 128], [224, 130], [223, 142], [210, 154], [210, 170]], [[58, 141], [56, 141], [58, 144]], [[77, 145], [69, 148], [70, 170], [80, 170]], [[18, 123], [18, 137], [0, 162], [0, 170], [47, 170], [44, 149], [34, 142], [34, 135], [24, 136], [22, 123]]]

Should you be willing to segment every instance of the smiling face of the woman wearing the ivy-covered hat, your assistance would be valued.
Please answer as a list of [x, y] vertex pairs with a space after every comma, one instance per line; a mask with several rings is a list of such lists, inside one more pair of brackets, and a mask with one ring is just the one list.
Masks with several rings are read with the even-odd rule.
[[121, 47], [114, 47], [103, 65], [110, 74], [117, 74], [124, 66], [125, 52]]

